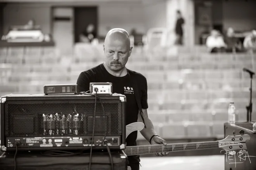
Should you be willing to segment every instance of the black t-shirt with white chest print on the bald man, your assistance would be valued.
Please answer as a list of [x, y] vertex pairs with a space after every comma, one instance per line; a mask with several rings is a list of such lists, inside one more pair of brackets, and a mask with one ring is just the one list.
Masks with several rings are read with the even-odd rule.
[[[136, 82], [139, 89], [142, 90], [141, 105], [142, 109], [147, 109], [147, 80], [145, 76], [133, 71], [136, 74]], [[78, 92], [86, 92], [89, 90], [90, 82], [111, 82], [113, 85], [113, 93], [120, 93], [126, 96], [126, 125], [137, 122], [138, 105], [135, 99], [133, 87], [131, 85], [131, 76], [128, 74], [123, 77], [111, 75], [103, 64], [100, 64], [90, 70], [80, 73], [77, 80]], [[131, 133], [126, 138], [126, 146], [136, 146], [137, 131]], [[140, 162], [139, 155], [128, 156], [129, 163]]]

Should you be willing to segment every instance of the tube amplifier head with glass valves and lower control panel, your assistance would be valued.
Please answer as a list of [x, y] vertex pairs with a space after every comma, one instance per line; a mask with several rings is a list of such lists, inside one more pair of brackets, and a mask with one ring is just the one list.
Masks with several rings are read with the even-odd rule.
[[[106, 149], [107, 143], [110, 149], [123, 150], [126, 97], [98, 97], [101, 102], [97, 99], [93, 146]], [[19, 150], [86, 149], [92, 143], [94, 111], [92, 95], [3, 96], [1, 149], [14, 151], [15, 144]]]

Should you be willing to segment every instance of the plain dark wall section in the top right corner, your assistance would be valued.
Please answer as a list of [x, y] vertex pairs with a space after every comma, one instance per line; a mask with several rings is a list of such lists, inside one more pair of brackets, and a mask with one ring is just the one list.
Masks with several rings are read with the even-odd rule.
[[238, 31], [256, 29], [256, 0], [229, 0], [223, 2], [224, 29], [234, 27]]

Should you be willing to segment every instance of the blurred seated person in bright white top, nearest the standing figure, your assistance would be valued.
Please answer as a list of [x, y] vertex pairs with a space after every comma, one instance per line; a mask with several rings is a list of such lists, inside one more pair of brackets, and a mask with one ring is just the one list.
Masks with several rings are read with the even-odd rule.
[[225, 52], [226, 44], [223, 37], [217, 30], [212, 30], [211, 35], [206, 39], [206, 46], [211, 53]]

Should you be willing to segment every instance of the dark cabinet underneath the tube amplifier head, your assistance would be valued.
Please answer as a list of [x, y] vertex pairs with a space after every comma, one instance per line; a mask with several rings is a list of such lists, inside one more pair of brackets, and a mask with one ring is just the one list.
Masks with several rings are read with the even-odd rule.
[[[89, 170], [90, 154], [72, 156], [43, 156], [35, 152], [18, 153], [16, 170]], [[127, 170], [128, 159], [124, 152], [111, 152], [114, 170]], [[111, 170], [107, 152], [92, 153], [91, 170]], [[14, 169], [14, 153], [0, 156], [1, 170]]]

